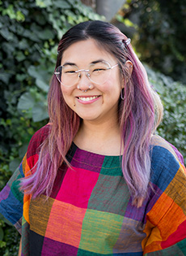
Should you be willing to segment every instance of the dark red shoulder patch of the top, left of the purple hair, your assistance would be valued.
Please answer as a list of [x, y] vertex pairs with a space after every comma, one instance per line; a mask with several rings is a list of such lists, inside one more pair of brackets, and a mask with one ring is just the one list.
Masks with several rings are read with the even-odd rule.
[[46, 124], [44, 127], [40, 128], [32, 136], [31, 141], [27, 147], [27, 158], [38, 153], [40, 151], [40, 146], [43, 144], [44, 140], [49, 136], [49, 131], [51, 124]]

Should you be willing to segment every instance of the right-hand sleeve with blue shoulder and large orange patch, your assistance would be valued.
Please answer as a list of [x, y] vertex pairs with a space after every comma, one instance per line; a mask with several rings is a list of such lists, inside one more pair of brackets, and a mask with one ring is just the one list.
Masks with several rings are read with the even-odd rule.
[[146, 215], [143, 255], [186, 255], [186, 171], [180, 159], [165, 141], [154, 146], [151, 184], [156, 201]]

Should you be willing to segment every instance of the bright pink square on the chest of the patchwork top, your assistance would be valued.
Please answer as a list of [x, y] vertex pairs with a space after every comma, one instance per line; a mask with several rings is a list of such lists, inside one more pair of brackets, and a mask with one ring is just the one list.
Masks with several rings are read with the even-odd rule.
[[99, 173], [81, 168], [68, 168], [56, 199], [74, 206], [87, 208], [91, 192], [99, 178]]

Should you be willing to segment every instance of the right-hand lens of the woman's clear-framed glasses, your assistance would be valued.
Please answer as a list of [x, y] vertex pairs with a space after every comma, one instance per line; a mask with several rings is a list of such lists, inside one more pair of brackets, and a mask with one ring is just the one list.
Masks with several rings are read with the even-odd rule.
[[95, 84], [101, 85], [108, 80], [109, 74], [111, 72], [111, 66], [106, 62], [99, 62], [91, 64], [90, 79], [95, 82]]

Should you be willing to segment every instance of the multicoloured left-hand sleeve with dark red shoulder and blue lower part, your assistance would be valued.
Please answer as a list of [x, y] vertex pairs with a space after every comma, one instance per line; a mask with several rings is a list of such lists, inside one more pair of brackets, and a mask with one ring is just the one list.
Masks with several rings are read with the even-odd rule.
[[45, 125], [37, 131], [27, 148], [22, 163], [15, 170], [13, 176], [8, 181], [0, 193], [0, 214], [9, 220], [21, 233], [24, 195], [20, 190], [20, 179], [27, 176], [38, 160], [40, 145], [49, 134], [50, 125]]

